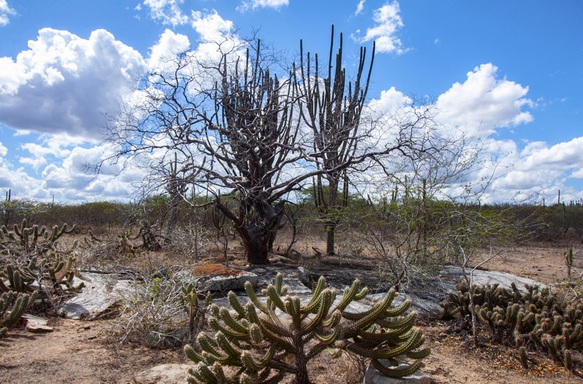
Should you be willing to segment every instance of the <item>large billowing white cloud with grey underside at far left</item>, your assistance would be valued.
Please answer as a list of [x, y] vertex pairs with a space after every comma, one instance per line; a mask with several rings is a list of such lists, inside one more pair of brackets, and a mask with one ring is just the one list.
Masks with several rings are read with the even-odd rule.
[[0, 123], [17, 130], [97, 137], [145, 71], [141, 54], [104, 29], [84, 39], [43, 28], [28, 47], [0, 58]]

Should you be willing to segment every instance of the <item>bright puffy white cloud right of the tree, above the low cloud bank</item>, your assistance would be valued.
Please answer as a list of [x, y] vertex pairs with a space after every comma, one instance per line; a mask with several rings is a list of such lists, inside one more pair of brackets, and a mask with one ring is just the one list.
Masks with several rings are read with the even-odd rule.
[[528, 86], [499, 78], [498, 68], [481, 64], [438, 97], [436, 106], [443, 123], [457, 125], [473, 135], [487, 136], [495, 128], [530, 123], [534, 117], [523, 110], [533, 106], [525, 96]]

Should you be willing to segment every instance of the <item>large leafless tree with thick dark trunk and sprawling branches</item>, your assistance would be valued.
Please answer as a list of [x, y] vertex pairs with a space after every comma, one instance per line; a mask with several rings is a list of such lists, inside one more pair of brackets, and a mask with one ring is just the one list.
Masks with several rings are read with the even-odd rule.
[[[159, 164], [177, 154], [176, 173], [204, 191], [209, 197], [206, 205], [214, 204], [233, 222], [252, 264], [268, 262], [270, 245], [283, 226], [283, 199], [288, 193], [311, 178], [333, 175], [330, 180], [337, 180], [386, 154], [407, 155], [414, 147], [413, 125], [387, 129], [394, 136], [391, 141], [379, 140], [382, 133], [374, 124], [357, 132], [359, 120], [352, 115], [360, 113], [366, 92], [353, 95], [350, 86], [345, 99], [352, 103], [352, 112], [346, 107], [346, 115], [330, 117], [330, 126], [343, 135], [346, 149], [342, 142], [315, 144], [326, 124], [305, 127], [309, 119], [302, 111], [308, 93], [300, 90], [311, 89], [314, 103], [320, 91], [298, 79], [295, 64], [281, 77], [274, 75], [274, 67], [274, 56], [261, 49], [259, 40], [244, 53], [222, 52], [216, 62], [183, 53], [165, 69], [148, 73], [139, 101], [123, 106], [110, 125], [109, 140], [119, 148], [114, 156], [118, 160], [147, 163], [144, 159], [153, 158]], [[304, 80], [311, 82], [310, 75]], [[335, 95], [344, 94], [344, 80], [339, 77], [335, 87], [329, 96], [340, 100]], [[326, 97], [326, 92], [322, 95]], [[341, 108], [342, 103], [330, 105]], [[335, 145], [340, 145], [336, 148], [342, 149], [342, 156], [327, 154]], [[330, 160], [322, 167], [324, 158]]]

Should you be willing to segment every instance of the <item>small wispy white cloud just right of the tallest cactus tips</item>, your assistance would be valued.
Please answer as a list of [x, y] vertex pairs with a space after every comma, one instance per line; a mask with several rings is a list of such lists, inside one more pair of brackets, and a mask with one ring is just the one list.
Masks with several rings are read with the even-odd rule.
[[401, 7], [398, 1], [386, 3], [374, 11], [372, 15], [372, 20], [375, 23], [374, 27], [367, 28], [364, 36], [351, 35], [353, 40], [359, 43], [375, 40], [378, 52], [404, 53], [407, 49], [403, 48], [403, 42], [396, 36], [398, 30], [404, 26], [400, 12]]

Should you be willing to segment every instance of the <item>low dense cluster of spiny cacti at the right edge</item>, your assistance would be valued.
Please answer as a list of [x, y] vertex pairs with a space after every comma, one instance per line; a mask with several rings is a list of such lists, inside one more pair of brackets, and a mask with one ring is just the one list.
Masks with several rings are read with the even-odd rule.
[[[468, 285], [458, 286], [442, 303], [445, 315], [470, 313]], [[571, 302], [548, 288], [525, 285], [523, 293], [512, 285], [477, 286], [473, 300], [477, 318], [485, 324], [492, 341], [514, 344], [527, 368], [527, 348], [545, 350], [558, 363], [572, 370], [571, 350], [583, 351], [583, 302]]]

